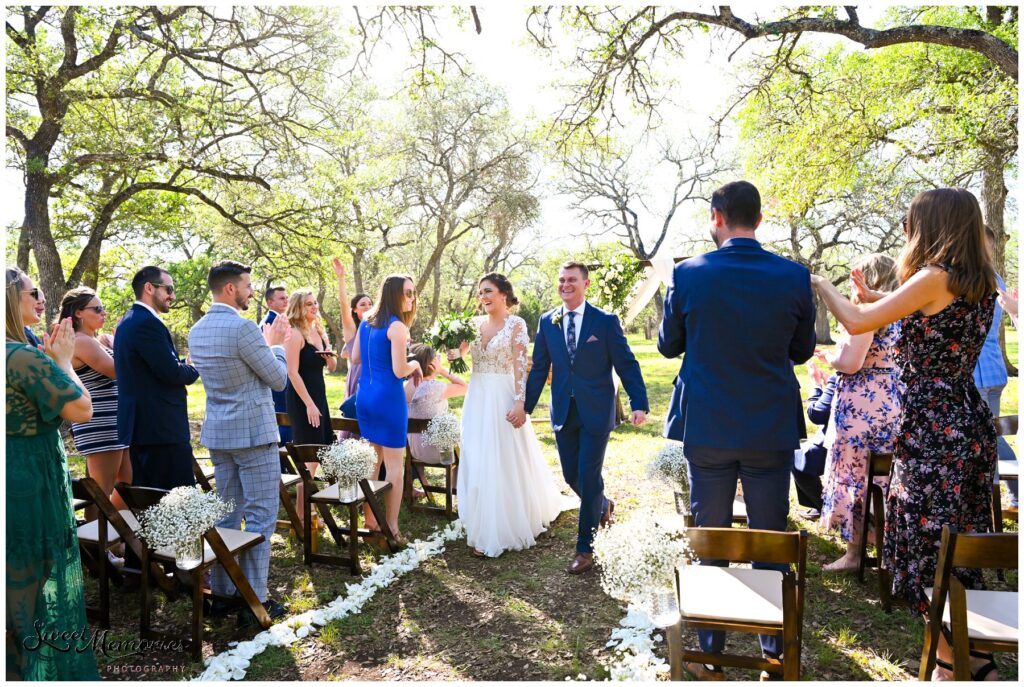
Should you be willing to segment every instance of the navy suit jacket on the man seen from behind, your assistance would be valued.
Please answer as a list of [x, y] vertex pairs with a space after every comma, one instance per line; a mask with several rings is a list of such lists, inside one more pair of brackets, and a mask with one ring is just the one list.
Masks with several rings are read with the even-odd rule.
[[793, 363], [814, 352], [806, 267], [731, 239], [676, 266], [657, 349], [682, 353], [666, 436], [692, 446], [795, 450], [806, 433]]

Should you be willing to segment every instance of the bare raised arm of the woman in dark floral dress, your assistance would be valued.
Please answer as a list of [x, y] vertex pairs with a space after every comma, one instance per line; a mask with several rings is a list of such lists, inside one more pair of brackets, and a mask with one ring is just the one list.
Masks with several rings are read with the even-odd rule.
[[854, 305], [822, 276], [812, 275], [811, 285], [850, 334], [871, 332], [919, 310], [927, 313], [940, 306], [934, 310], [937, 312], [952, 300], [945, 270], [933, 266], [921, 269], [891, 294], [862, 305]]

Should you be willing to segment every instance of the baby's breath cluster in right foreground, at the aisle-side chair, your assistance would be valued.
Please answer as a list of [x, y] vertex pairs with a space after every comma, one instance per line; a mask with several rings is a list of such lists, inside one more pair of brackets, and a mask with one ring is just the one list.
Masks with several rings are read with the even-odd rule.
[[599, 529], [594, 556], [604, 591], [621, 601], [638, 603], [654, 590], [673, 587], [676, 568], [695, 560], [685, 525], [659, 522], [647, 511]]

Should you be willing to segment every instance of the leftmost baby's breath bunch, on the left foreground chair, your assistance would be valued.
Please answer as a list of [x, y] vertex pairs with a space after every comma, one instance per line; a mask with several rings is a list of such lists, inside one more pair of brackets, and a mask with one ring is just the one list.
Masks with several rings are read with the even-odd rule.
[[[218, 520], [231, 512], [234, 505], [225, 502], [215, 491], [203, 491], [198, 486], [178, 486], [171, 489], [160, 502], [139, 514], [140, 534], [154, 549], [173, 549], [178, 563], [183, 559], [196, 564], [196, 552], [182, 554], [201, 543], [201, 538]], [[198, 557], [202, 560], [202, 548]]]

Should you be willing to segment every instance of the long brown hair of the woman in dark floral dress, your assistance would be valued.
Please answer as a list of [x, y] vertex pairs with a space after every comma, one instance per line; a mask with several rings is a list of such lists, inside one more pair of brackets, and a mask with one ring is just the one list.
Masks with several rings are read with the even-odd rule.
[[943, 266], [950, 293], [980, 303], [995, 293], [995, 270], [985, 242], [978, 199], [965, 188], [918, 194], [906, 215], [907, 242], [899, 260], [906, 282], [928, 265]]

